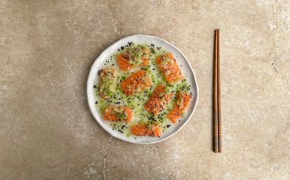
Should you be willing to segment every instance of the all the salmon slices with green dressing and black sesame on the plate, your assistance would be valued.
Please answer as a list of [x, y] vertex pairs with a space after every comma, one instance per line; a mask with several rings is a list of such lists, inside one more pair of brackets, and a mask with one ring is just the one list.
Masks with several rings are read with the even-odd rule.
[[172, 53], [154, 44], [120, 47], [93, 86], [105, 124], [128, 138], [163, 136], [182, 121], [192, 100], [180, 66]]

